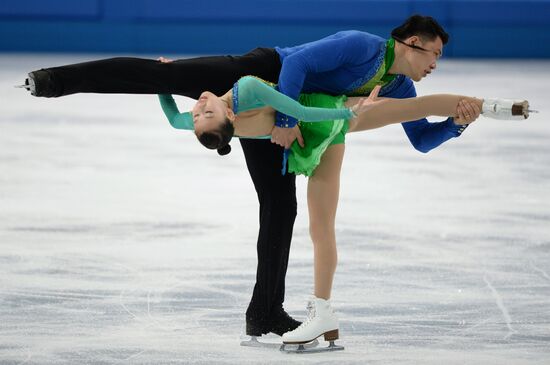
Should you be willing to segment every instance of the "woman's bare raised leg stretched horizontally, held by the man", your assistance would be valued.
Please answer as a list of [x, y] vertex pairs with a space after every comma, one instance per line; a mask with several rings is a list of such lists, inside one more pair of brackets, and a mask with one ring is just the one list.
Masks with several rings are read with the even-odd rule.
[[[346, 101], [346, 106], [351, 107], [360, 99], [349, 98]], [[382, 99], [376, 101], [369, 111], [352, 119], [349, 131], [358, 132], [380, 128], [388, 124], [418, 120], [430, 115], [454, 117], [458, 102], [463, 99], [475, 102], [481, 110], [482, 99], [462, 95], [437, 94], [408, 99]]]

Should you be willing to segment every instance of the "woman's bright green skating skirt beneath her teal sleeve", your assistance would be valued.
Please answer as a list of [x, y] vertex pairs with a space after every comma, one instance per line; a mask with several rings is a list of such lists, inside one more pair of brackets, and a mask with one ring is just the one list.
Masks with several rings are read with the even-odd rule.
[[[331, 96], [325, 94], [302, 94], [300, 104], [318, 108], [345, 108], [346, 96]], [[290, 147], [288, 171], [296, 175], [313, 175], [315, 168], [321, 162], [326, 149], [333, 145], [344, 143], [349, 122], [345, 119], [328, 120], [324, 122], [298, 122], [305, 147], [295, 141]]]

